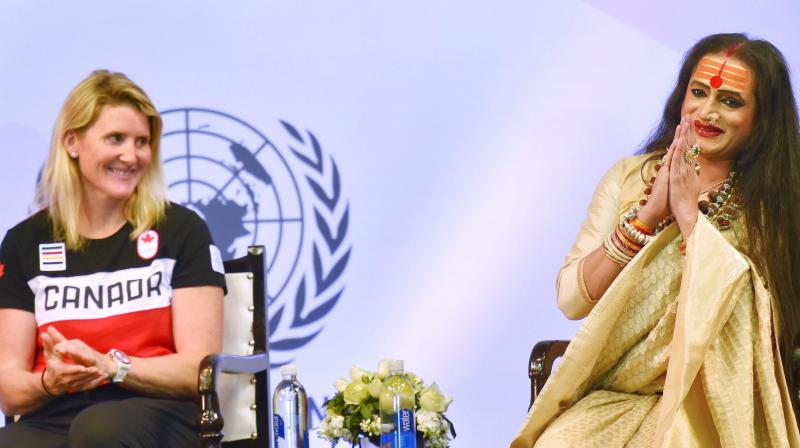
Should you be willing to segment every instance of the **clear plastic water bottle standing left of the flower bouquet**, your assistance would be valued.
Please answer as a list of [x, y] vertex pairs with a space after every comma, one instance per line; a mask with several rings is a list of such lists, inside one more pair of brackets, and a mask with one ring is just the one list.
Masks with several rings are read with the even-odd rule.
[[308, 398], [297, 367], [281, 367], [283, 380], [272, 395], [274, 448], [308, 448]]

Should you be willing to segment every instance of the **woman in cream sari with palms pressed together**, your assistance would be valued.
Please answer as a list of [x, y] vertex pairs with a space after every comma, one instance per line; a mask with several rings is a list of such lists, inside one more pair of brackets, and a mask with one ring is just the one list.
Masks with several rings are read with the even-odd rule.
[[586, 319], [511, 448], [800, 447], [800, 136], [774, 46], [687, 53], [642, 154], [597, 187], [558, 305]]

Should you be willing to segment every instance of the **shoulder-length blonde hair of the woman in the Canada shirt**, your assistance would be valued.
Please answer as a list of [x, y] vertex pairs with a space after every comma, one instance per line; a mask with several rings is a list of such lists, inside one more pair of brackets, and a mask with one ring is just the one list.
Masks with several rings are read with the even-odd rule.
[[83, 248], [86, 239], [78, 233], [83, 200], [80, 168], [78, 161], [69, 156], [64, 138], [69, 131], [83, 134], [106, 105], [130, 106], [147, 117], [150, 126], [150, 165], [125, 204], [125, 218], [133, 225], [131, 239], [160, 221], [168, 205], [159, 147], [161, 116], [147, 94], [128, 77], [96, 70], [70, 92], [61, 107], [37, 193], [38, 205], [47, 208], [50, 215], [55, 240], [66, 241], [72, 250]]

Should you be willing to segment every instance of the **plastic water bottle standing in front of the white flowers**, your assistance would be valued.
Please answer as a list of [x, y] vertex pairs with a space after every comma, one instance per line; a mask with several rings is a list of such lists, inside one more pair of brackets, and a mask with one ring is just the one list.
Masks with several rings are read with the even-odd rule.
[[416, 448], [414, 386], [405, 375], [403, 361], [389, 363], [389, 377], [383, 381], [379, 402], [381, 448]]

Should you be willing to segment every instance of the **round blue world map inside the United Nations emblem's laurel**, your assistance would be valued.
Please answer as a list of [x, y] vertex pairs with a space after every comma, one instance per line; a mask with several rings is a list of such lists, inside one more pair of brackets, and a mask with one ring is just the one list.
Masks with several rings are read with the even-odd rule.
[[267, 248], [267, 297], [289, 284], [300, 259], [303, 201], [286, 158], [250, 124], [223, 112], [162, 112], [161, 160], [169, 199], [208, 223], [224, 259]]

